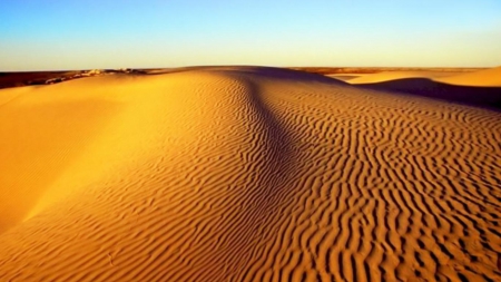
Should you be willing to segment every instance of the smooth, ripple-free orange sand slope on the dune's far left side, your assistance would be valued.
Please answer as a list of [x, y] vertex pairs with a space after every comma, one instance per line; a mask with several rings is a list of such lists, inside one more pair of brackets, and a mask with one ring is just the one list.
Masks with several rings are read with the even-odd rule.
[[0, 90], [16, 94], [0, 106], [0, 232], [27, 216], [116, 110], [99, 95], [61, 86]]

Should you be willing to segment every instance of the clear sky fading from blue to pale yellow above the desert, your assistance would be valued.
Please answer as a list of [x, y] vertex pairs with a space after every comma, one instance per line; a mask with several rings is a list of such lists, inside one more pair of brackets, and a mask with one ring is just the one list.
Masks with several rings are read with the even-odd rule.
[[0, 71], [205, 65], [501, 66], [501, 1], [0, 1]]

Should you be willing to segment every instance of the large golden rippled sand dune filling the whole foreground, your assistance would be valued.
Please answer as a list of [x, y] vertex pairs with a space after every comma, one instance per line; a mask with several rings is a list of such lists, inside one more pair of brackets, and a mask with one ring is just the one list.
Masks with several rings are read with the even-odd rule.
[[1, 281], [501, 279], [499, 111], [250, 67], [7, 95]]

